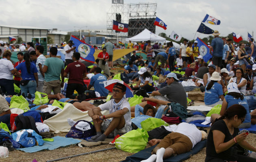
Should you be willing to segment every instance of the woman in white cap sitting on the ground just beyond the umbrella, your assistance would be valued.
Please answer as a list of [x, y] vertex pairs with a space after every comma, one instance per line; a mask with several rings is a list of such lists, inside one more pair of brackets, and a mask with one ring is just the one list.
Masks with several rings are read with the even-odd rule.
[[137, 85], [132, 87], [132, 90], [144, 89], [147, 92], [154, 91], [155, 90], [154, 81], [152, 79], [150, 72], [148, 72], [147, 69], [143, 67], [139, 70], [138, 74], [140, 75], [139, 81]]

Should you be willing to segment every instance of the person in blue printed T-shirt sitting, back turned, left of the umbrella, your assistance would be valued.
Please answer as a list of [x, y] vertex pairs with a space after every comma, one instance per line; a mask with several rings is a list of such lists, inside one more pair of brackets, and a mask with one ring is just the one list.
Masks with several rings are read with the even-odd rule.
[[91, 77], [91, 81], [88, 85], [87, 90], [90, 90], [91, 87], [94, 87], [95, 92], [99, 92], [100, 96], [108, 96], [108, 90], [104, 87], [103, 81], [106, 81], [106, 76], [101, 74], [101, 68], [97, 67], [94, 70], [94, 76]]

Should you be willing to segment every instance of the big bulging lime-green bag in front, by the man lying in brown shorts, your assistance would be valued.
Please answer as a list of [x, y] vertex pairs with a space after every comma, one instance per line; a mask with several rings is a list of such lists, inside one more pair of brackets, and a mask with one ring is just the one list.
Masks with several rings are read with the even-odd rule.
[[122, 151], [136, 153], [147, 146], [148, 132], [143, 129], [131, 130], [115, 140], [115, 147]]

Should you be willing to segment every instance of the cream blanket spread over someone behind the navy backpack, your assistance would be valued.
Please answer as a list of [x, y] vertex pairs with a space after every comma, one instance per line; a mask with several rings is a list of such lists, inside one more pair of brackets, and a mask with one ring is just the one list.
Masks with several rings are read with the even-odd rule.
[[[102, 115], [106, 115], [108, 111], [102, 111]], [[43, 123], [47, 124], [51, 132], [69, 132], [71, 126], [67, 123], [67, 118], [71, 118], [74, 121], [86, 120], [91, 121], [91, 117], [88, 115], [88, 111], [80, 111], [73, 106], [73, 104], [67, 103], [60, 113], [54, 115], [53, 117], [44, 120]]]

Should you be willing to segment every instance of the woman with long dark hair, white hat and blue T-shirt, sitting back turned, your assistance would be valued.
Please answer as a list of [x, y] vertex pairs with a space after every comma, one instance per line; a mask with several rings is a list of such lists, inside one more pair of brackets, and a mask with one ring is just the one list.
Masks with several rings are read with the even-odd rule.
[[[213, 72], [210, 77], [210, 82], [207, 83], [204, 93], [204, 104], [209, 107], [214, 107], [216, 104], [222, 104], [224, 99], [222, 86], [218, 83], [221, 80], [218, 72]], [[221, 100], [219, 99], [221, 98]]]

